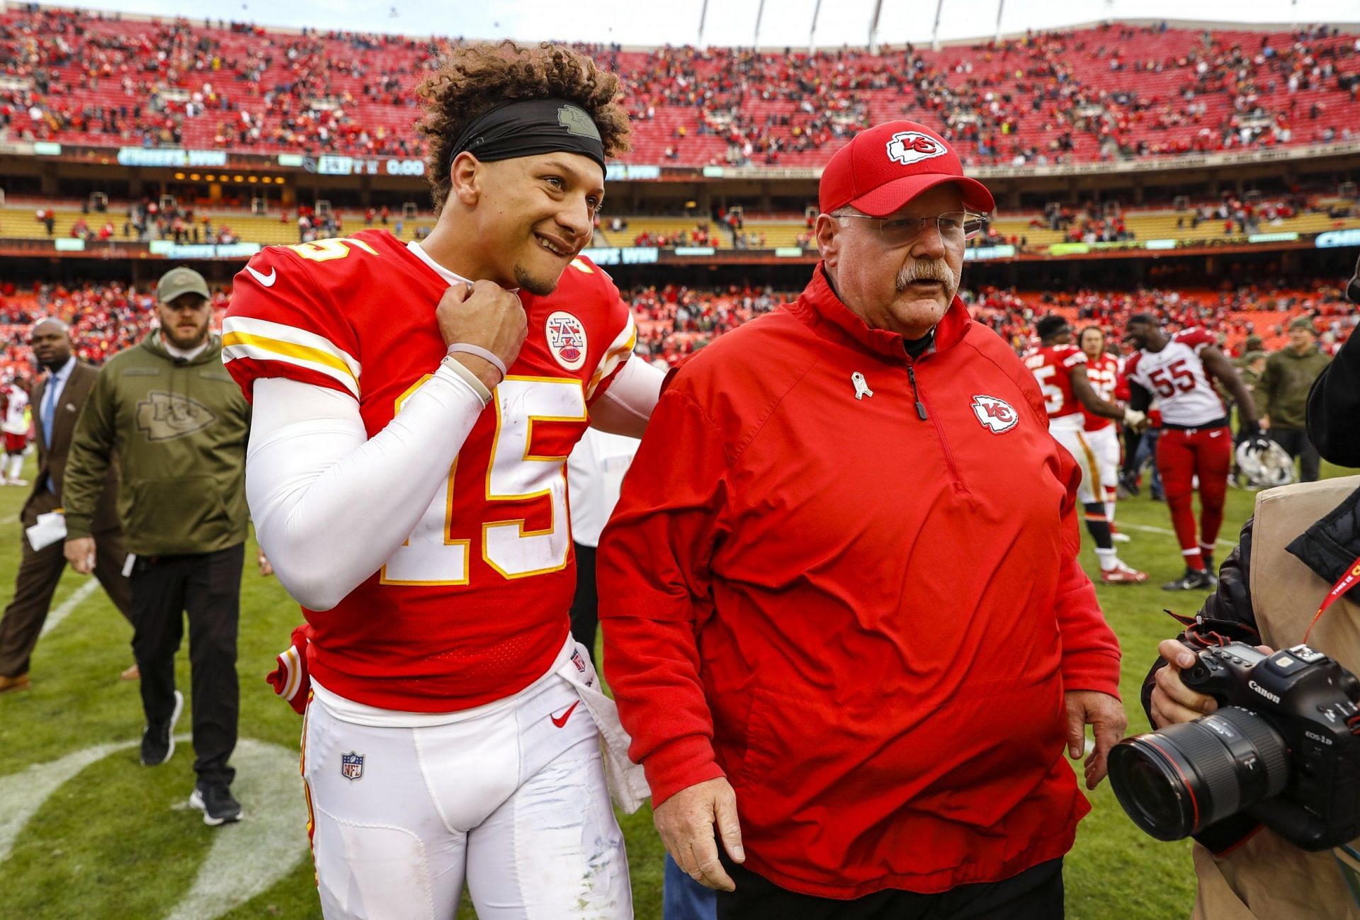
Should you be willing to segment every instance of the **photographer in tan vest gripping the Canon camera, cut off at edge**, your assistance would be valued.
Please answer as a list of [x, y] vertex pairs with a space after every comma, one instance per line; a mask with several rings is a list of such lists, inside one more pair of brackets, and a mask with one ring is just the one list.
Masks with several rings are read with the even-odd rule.
[[[1349, 294], [1360, 300], [1360, 283], [1352, 281]], [[1360, 352], [1352, 347], [1352, 361], [1345, 366], [1350, 374], [1356, 356]], [[1323, 386], [1322, 381], [1318, 386]], [[1310, 400], [1310, 429], [1353, 431], [1355, 400], [1353, 391], [1344, 394], [1341, 389], [1326, 400]], [[1333, 453], [1337, 442], [1319, 443], [1329, 461], [1357, 459], [1353, 453]], [[1315, 620], [1333, 586], [1340, 586], [1357, 565], [1357, 557], [1360, 476], [1262, 492], [1255, 515], [1242, 529], [1242, 542], [1223, 564], [1217, 590], [1200, 614], [1213, 621], [1209, 626], [1216, 632], [1263, 643], [1263, 648], [1296, 645], [1307, 633], [1312, 648], [1360, 671], [1360, 598], [1341, 595]], [[1161, 728], [1213, 712], [1212, 697], [1182, 682], [1182, 671], [1195, 663], [1194, 652], [1178, 639], [1163, 641], [1157, 651], [1163, 660], [1149, 671], [1142, 688], [1144, 709], [1153, 726]], [[1300, 849], [1244, 813], [1210, 825], [1195, 840], [1194, 920], [1360, 920], [1360, 904], [1346, 889], [1331, 852]]]

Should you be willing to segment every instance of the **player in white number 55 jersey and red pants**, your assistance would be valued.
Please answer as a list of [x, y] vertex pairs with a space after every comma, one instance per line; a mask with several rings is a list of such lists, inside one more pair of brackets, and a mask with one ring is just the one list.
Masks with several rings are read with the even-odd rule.
[[[1157, 470], [1171, 510], [1171, 526], [1185, 557], [1185, 575], [1161, 587], [1167, 591], [1206, 590], [1214, 586], [1213, 546], [1223, 526], [1223, 503], [1232, 469], [1232, 431], [1223, 400], [1209, 378], [1217, 379], [1238, 401], [1242, 429], [1259, 431], [1255, 402], [1236, 370], [1205, 329], [1182, 329], [1167, 336], [1157, 318], [1136, 313], [1126, 325], [1126, 341], [1137, 351], [1125, 364], [1129, 405], [1145, 410], [1157, 395], [1161, 436]], [[1195, 538], [1190, 496], [1200, 480], [1200, 534]]]

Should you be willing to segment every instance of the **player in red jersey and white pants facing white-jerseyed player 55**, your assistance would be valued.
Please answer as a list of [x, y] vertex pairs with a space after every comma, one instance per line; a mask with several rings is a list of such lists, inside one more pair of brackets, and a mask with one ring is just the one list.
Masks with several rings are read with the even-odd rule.
[[[1100, 561], [1100, 580], [1106, 584], [1138, 584], [1146, 582], [1144, 572], [1121, 561], [1106, 519], [1104, 485], [1096, 454], [1083, 431], [1083, 409], [1100, 419], [1121, 419], [1130, 425], [1142, 421], [1141, 412], [1133, 412], [1103, 400], [1087, 378], [1087, 356], [1072, 344], [1072, 326], [1058, 315], [1049, 315], [1035, 323], [1039, 348], [1024, 356], [1049, 410], [1049, 434], [1068, 448], [1081, 467], [1077, 499], [1085, 508], [1087, 530], [1096, 545]], [[1112, 473], [1112, 470], [1111, 470]]]

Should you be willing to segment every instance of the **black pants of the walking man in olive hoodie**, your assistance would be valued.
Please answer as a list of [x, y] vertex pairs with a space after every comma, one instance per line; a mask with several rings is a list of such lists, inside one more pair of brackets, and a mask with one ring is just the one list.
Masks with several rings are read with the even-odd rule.
[[174, 656], [189, 613], [193, 769], [199, 783], [227, 783], [237, 746], [237, 622], [245, 544], [196, 556], [139, 557], [132, 569], [132, 654], [141, 669], [148, 723], [174, 712]]

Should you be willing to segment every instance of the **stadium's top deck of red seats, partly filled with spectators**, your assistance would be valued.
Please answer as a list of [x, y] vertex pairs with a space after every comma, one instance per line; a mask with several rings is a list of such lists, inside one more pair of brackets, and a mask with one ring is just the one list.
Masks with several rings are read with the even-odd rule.
[[[1112, 24], [1000, 45], [592, 48], [624, 76], [626, 159], [820, 166], [911, 117], [971, 163], [1044, 164], [1326, 144], [1360, 125], [1360, 38]], [[424, 39], [207, 22], [0, 14], [0, 137], [419, 156]]]

